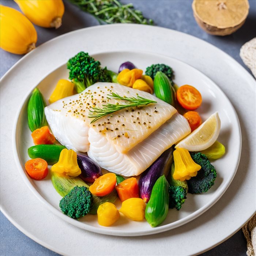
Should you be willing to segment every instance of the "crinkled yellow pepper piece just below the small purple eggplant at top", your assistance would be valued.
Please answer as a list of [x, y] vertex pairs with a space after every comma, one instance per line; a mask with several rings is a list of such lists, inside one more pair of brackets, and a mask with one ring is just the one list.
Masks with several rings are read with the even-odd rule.
[[128, 68], [123, 69], [117, 76], [118, 83], [132, 87], [135, 80], [141, 78], [143, 71], [141, 69], [133, 68], [129, 70]]

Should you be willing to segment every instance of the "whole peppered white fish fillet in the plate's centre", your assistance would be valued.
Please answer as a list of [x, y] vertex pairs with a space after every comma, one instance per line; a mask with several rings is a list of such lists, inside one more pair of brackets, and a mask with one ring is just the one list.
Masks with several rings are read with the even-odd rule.
[[[122, 97], [139, 95], [157, 103], [126, 108], [90, 124], [92, 107], [130, 103], [109, 97], [112, 92]], [[190, 132], [187, 120], [176, 113], [173, 106], [149, 93], [114, 83], [95, 83], [45, 108], [48, 124], [61, 144], [75, 151], [88, 151], [101, 167], [124, 176], [139, 175]]]

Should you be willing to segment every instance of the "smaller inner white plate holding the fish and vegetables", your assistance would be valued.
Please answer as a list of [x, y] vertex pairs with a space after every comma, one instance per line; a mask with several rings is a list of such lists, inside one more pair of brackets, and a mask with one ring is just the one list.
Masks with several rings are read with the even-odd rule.
[[[70, 57], [72, 56], [67, 56], [67, 60]], [[52, 182], [50, 181], [50, 174], [48, 174], [48, 177], [42, 181], [35, 181], [29, 178], [24, 168], [26, 161], [30, 159], [27, 154], [27, 149], [34, 145], [31, 138], [31, 131], [27, 125], [27, 101], [31, 95], [31, 91], [34, 89], [34, 86], [37, 86], [37, 84], [28, 91], [29, 96], [26, 97], [25, 102], [22, 104], [20, 113], [16, 118], [16, 132], [14, 133], [13, 138], [14, 151], [16, 148], [16, 163], [26, 184], [29, 186], [31, 191], [35, 193], [38, 199], [45, 203], [49, 210], [63, 218], [65, 221], [80, 228], [101, 234], [108, 234], [112, 236], [141, 236], [155, 234], [181, 226], [200, 216], [214, 203], [216, 203], [226, 191], [236, 174], [239, 163], [241, 152], [241, 130], [237, 114], [230, 101], [218, 86], [205, 75], [188, 64], [176, 59], [161, 56], [159, 54], [143, 52], [100, 53], [94, 54], [93, 57], [96, 60], [99, 60], [103, 67], [107, 66], [108, 69], [115, 72], [117, 72], [120, 64], [126, 60], [131, 61], [136, 67], [143, 69], [144, 71], [148, 65], [153, 63], [165, 63], [173, 68], [175, 72], [174, 82], [176, 84], [180, 86], [183, 84], [191, 84], [200, 91], [203, 103], [197, 111], [203, 121], [212, 113], [219, 113], [219, 117], [221, 119], [221, 132], [218, 140], [226, 146], [225, 156], [214, 162], [214, 166], [217, 170], [217, 179], [214, 186], [207, 193], [203, 193], [201, 195], [188, 194], [188, 198], [181, 210], [169, 210], [165, 221], [155, 228], [148, 225], [146, 220], [143, 222], [134, 222], [125, 218], [120, 218], [115, 225], [106, 228], [98, 224], [97, 215], [87, 215], [80, 218], [79, 221], [67, 217], [62, 214], [59, 209], [59, 202], [62, 197], [55, 191]], [[54, 87], [60, 79], [68, 79], [66, 63], [50, 72], [50, 74], [38, 84], [37, 87], [44, 95], [45, 99], [49, 99]], [[226, 172], [225, 166], [229, 166], [229, 172]]]

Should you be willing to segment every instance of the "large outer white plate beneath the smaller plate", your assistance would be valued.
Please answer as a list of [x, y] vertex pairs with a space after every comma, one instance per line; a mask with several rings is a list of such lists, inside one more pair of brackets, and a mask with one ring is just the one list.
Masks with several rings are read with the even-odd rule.
[[[113, 49], [164, 54], [203, 71], [229, 96], [242, 125], [241, 167], [230, 188], [211, 210], [163, 234], [113, 239], [70, 225], [34, 197], [20, 180], [13, 164], [10, 143], [13, 116], [25, 95], [45, 74], [65, 63], [67, 56], [73, 56], [79, 50], [93, 54], [112, 52]], [[111, 25], [78, 30], [55, 38], [27, 54], [1, 80], [1, 210], [29, 237], [61, 254], [184, 255], [211, 248], [231, 236], [255, 212], [255, 205], [251, 203], [255, 202], [255, 133], [252, 130], [255, 117], [251, 114], [255, 113], [254, 86], [252, 76], [227, 54], [177, 31], [152, 26]], [[229, 172], [229, 166], [226, 166], [226, 172]], [[98, 246], [99, 241], [101, 246]], [[127, 244], [130, 244], [129, 249]]]

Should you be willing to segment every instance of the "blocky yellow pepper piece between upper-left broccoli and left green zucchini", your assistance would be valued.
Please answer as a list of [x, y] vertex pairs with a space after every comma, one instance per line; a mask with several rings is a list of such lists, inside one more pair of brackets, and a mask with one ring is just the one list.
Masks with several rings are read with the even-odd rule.
[[60, 79], [52, 95], [49, 98], [49, 102], [53, 103], [55, 101], [58, 101], [59, 99], [63, 99], [65, 97], [71, 96], [73, 95], [73, 90], [74, 90], [74, 83], [65, 79]]

